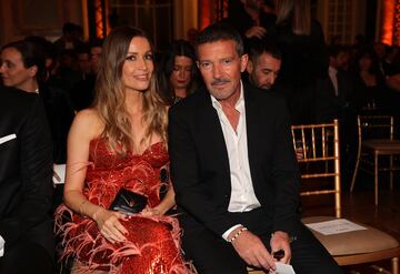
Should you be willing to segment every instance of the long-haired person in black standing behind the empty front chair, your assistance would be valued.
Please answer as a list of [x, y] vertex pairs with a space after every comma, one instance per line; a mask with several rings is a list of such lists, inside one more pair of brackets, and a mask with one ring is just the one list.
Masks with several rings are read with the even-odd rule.
[[316, 81], [328, 73], [322, 28], [311, 19], [310, 0], [277, 0], [276, 24], [267, 30], [282, 53], [277, 89], [286, 97], [291, 122], [314, 122]]

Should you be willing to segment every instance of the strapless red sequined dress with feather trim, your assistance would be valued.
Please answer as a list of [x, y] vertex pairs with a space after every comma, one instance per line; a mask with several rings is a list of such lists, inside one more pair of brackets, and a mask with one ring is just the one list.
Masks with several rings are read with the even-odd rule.
[[[163, 143], [152, 144], [140, 155], [119, 156], [109, 150], [104, 139], [96, 139], [90, 142], [89, 161], [83, 194], [91, 203], [108, 209], [122, 185], [146, 195], [150, 207], [160, 203], [160, 172], [169, 163]], [[82, 273], [191, 273], [180, 255], [177, 219], [134, 215], [120, 222], [129, 231], [127, 241], [112, 244], [100, 234], [93, 220], [60, 205], [56, 231], [62, 237], [62, 257], [73, 256], [81, 262]]]

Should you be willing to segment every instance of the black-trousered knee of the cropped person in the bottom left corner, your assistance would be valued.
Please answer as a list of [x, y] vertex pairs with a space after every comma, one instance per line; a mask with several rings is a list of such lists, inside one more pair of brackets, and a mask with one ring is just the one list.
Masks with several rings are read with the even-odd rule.
[[43, 246], [37, 243], [19, 241], [0, 257], [0, 273], [53, 274], [54, 265], [50, 254]]

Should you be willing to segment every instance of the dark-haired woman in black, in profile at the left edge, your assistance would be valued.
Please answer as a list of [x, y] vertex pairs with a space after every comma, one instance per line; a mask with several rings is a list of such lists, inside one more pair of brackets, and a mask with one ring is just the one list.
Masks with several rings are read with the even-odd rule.
[[20, 40], [1, 49], [0, 74], [6, 87], [38, 93], [43, 100], [53, 142], [54, 163], [66, 163], [67, 135], [74, 116], [68, 95], [46, 84], [47, 71], [41, 44]]

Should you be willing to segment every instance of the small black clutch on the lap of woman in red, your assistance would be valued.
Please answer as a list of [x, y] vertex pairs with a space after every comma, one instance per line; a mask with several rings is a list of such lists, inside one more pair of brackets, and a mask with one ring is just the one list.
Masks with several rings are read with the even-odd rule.
[[138, 193], [131, 192], [127, 189], [121, 189], [110, 210], [119, 211], [128, 215], [140, 213], [147, 205], [147, 197]]

